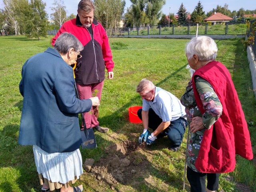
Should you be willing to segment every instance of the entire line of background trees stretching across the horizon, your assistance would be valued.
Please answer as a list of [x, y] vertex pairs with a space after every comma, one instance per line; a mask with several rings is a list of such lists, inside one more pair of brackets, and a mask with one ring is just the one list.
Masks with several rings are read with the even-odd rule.
[[[3, 0], [4, 10], [0, 10], [0, 31], [3, 35], [25, 34], [29, 38], [45, 37], [48, 29], [58, 29], [65, 21], [76, 18], [76, 15], [66, 15], [66, 6], [63, 0], [54, 0], [52, 3], [51, 20], [48, 20], [46, 3], [42, 0]], [[166, 0], [130, 0], [132, 5], [124, 14], [125, 0], [94, 0], [95, 18], [102, 23], [106, 30], [120, 27], [121, 16], [124, 15], [125, 27], [144, 27], [156, 24], [184, 24], [188, 22], [201, 23], [214, 12], [221, 12], [234, 18], [232, 22], [245, 21], [244, 14], [256, 14], [255, 10], [230, 11], [228, 4], [217, 5], [207, 14], [199, 1], [192, 14], [186, 11], [182, 3], [178, 12], [178, 20], [174, 14], [162, 14], [162, 7]], [[190, 19], [188, 19], [190, 14]], [[162, 16], [162, 17], [161, 17]], [[168, 19], [170, 18], [170, 19]], [[160, 20], [159, 20], [160, 19]]]

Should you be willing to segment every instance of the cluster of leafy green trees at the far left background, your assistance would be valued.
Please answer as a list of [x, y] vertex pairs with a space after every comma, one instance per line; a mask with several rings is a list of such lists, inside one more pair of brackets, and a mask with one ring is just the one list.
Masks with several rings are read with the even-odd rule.
[[28, 37], [46, 36], [46, 4], [42, 0], [3, 0], [4, 10], [0, 10], [2, 34], [13, 32]]

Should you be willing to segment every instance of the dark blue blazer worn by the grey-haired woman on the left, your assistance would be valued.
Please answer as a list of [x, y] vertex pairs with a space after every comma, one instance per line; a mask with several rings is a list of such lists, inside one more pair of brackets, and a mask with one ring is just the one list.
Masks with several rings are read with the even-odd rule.
[[29, 58], [19, 88], [24, 99], [18, 143], [37, 145], [48, 153], [78, 149], [78, 113], [88, 112], [92, 101], [76, 98], [73, 69], [58, 51], [48, 48]]

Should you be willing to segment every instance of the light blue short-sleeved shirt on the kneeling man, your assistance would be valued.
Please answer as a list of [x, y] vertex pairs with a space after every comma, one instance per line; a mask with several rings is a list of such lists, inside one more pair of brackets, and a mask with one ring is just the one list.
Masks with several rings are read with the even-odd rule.
[[185, 107], [180, 103], [180, 100], [160, 87], [156, 87], [153, 101], [142, 100], [142, 110], [148, 111], [150, 108], [163, 122], [177, 120], [186, 114]]

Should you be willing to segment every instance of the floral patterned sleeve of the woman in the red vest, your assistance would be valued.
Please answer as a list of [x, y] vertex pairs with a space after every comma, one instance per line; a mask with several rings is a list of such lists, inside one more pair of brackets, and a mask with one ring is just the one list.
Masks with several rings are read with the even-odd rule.
[[206, 111], [202, 115], [203, 125], [204, 128], [210, 129], [212, 124], [214, 124], [222, 114], [222, 104], [210, 83], [200, 77], [196, 78], [195, 83]]

